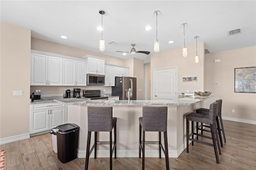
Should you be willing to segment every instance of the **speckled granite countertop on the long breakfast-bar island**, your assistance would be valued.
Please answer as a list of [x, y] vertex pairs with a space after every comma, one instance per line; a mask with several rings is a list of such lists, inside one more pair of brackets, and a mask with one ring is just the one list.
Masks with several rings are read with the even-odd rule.
[[210, 97], [195, 96], [174, 100], [84, 100], [84, 99], [54, 99], [65, 105], [193, 105], [210, 99]]

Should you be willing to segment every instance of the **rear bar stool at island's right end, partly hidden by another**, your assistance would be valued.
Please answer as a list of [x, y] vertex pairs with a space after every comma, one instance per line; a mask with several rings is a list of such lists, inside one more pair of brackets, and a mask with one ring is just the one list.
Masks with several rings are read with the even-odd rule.
[[[223, 133], [223, 138], [224, 138], [224, 142], [225, 143], [226, 143], [226, 136], [225, 136], [223, 122], [222, 122], [222, 117], [221, 117], [222, 99], [216, 100], [216, 102], [217, 102], [216, 124], [217, 124], [217, 129], [218, 129], [219, 138], [220, 138], [220, 145], [223, 148], [221, 131]], [[200, 108], [200, 109], [196, 110], [196, 113], [201, 113], [201, 114], [204, 114], [204, 115], [208, 115], [209, 114], [209, 109]], [[220, 122], [219, 122], [219, 118], [220, 118]], [[220, 127], [220, 125], [221, 125], [221, 127]], [[201, 125], [197, 127], [197, 128], [201, 128], [200, 129], [201, 130], [201, 134], [203, 134], [203, 131], [210, 132], [210, 130], [203, 129], [203, 127], [208, 127], [209, 128], [208, 125], [203, 125], [201, 123]]]

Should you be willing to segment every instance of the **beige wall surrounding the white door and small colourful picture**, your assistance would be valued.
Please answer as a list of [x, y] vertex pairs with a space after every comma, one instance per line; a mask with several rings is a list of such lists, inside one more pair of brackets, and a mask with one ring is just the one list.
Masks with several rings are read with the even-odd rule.
[[[182, 47], [151, 54], [151, 99], [153, 99], [154, 69], [177, 67], [178, 95], [189, 90], [204, 91], [204, 42], [198, 43], [200, 62], [195, 63], [196, 44], [188, 45], [188, 57], [182, 57]], [[198, 77], [198, 81], [182, 82], [182, 77]]]

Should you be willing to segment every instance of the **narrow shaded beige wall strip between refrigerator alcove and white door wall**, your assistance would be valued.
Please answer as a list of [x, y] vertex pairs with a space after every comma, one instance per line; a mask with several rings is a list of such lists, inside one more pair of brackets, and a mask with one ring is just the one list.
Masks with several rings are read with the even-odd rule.
[[144, 64], [144, 100], [150, 100], [150, 63]]

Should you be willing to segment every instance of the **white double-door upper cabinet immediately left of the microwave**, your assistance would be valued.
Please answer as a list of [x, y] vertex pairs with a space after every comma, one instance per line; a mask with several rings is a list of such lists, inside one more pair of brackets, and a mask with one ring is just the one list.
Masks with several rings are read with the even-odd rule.
[[86, 62], [63, 59], [63, 85], [86, 86]]

